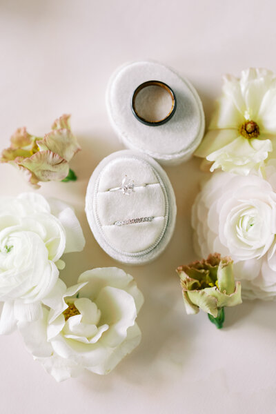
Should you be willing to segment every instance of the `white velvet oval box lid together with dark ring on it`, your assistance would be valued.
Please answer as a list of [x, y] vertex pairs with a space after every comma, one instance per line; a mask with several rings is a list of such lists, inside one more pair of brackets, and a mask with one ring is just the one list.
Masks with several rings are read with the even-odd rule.
[[117, 69], [108, 83], [106, 106], [123, 144], [161, 164], [186, 161], [204, 135], [204, 111], [195, 88], [154, 61], [136, 61]]

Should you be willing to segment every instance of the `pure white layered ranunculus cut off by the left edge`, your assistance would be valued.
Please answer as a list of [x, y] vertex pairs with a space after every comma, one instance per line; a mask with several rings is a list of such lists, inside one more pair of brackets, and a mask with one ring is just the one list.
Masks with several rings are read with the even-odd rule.
[[0, 333], [37, 319], [56, 288], [63, 253], [84, 246], [72, 208], [42, 195], [0, 197]]

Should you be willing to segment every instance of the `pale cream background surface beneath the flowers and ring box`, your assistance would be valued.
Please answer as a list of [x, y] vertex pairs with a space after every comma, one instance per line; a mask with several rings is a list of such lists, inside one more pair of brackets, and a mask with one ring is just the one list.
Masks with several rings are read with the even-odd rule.
[[[105, 106], [112, 72], [126, 61], [155, 59], [197, 88], [207, 124], [221, 75], [248, 66], [276, 70], [274, 1], [0, 0], [0, 145], [19, 126], [48, 132], [63, 112], [83, 148], [72, 161], [76, 183], [43, 184], [39, 193], [75, 207], [83, 253], [65, 256], [61, 277], [116, 266], [95, 242], [84, 213], [86, 186], [99, 161], [123, 149]], [[0, 412], [268, 413], [276, 412], [276, 304], [246, 302], [226, 310], [222, 331], [204, 313], [185, 315], [175, 268], [195, 259], [190, 208], [205, 176], [199, 160], [166, 167], [177, 197], [177, 228], [165, 253], [142, 267], [121, 266], [146, 302], [141, 345], [106, 377], [87, 373], [57, 384], [24, 349], [18, 333], [0, 337]], [[0, 192], [28, 191], [0, 165]]]

